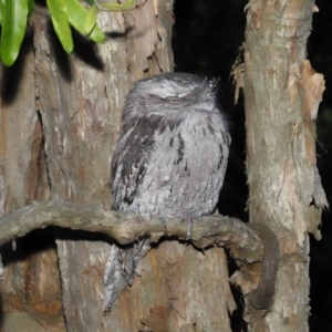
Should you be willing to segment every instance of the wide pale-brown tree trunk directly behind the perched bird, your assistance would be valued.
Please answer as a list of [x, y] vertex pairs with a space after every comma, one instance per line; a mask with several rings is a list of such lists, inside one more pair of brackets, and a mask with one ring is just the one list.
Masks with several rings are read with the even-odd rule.
[[[173, 70], [172, 10], [168, 0], [147, 1], [126, 14], [103, 13], [100, 22], [111, 38], [94, 48], [77, 37], [75, 55], [69, 58], [56, 46], [44, 10], [38, 9], [35, 81], [53, 199], [110, 208], [107, 183], [121, 107], [132, 82]], [[220, 249], [203, 255], [177, 241], [162, 243], [141, 262], [141, 277], [114, 311], [102, 317], [110, 245], [86, 234], [56, 236], [69, 331], [230, 330], [228, 308], [235, 305]]]

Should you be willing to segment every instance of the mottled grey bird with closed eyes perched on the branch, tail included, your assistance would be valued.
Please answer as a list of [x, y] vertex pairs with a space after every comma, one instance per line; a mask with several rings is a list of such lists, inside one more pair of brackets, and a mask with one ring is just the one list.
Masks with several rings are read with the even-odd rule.
[[[212, 212], [230, 136], [216, 102], [216, 81], [166, 73], [135, 83], [122, 116], [111, 167], [112, 208], [172, 218]], [[148, 240], [113, 246], [106, 266], [105, 312], [128, 283]]]

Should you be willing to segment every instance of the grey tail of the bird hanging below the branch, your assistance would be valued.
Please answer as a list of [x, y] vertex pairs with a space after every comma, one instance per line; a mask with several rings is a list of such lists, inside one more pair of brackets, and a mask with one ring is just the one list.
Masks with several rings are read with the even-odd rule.
[[104, 314], [113, 310], [122, 290], [132, 286], [138, 261], [151, 249], [149, 240], [134, 242], [129, 247], [112, 246], [104, 274]]

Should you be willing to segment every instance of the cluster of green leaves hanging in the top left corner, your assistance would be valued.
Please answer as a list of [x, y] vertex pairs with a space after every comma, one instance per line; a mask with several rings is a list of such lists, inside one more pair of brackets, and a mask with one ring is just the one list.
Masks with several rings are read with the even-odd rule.
[[[54, 31], [66, 53], [74, 49], [72, 28], [96, 43], [105, 41], [105, 34], [96, 23], [98, 10], [131, 10], [135, 0], [125, 3], [97, 3], [85, 0], [86, 9], [79, 0], [46, 0]], [[29, 15], [33, 13], [33, 0], [0, 0], [1, 43], [0, 56], [10, 66], [17, 60], [27, 30]]]

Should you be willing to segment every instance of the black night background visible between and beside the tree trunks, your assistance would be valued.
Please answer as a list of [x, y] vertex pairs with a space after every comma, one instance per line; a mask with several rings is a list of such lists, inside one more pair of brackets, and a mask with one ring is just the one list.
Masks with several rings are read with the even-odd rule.
[[[222, 215], [248, 220], [248, 188], [245, 173], [243, 101], [234, 105], [230, 77], [238, 49], [245, 41], [247, 0], [175, 0], [173, 49], [175, 71], [220, 77], [220, 104], [229, 114], [232, 145], [219, 210]], [[320, 9], [313, 14], [308, 41], [308, 59], [324, 75], [325, 92], [320, 105], [318, 126], [318, 164], [328, 200], [332, 204], [332, 1], [317, 0]], [[323, 239], [311, 238], [310, 331], [332, 331], [332, 214], [322, 216]], [[291, 290], [290, 290], [291, 291]], [[241, 302], [238, 302], [241, 307]], [[234, 330], [241, 328], [241, 309], [232, 318]]]

